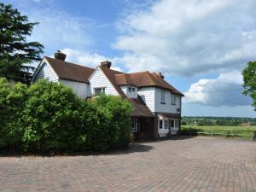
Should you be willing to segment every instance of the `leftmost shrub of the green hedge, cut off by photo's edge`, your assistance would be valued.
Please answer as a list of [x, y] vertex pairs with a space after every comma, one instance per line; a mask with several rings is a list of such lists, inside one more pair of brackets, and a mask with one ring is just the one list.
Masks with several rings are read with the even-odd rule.
[[26, 84], [10, 84], [0, 78], [0, 148], [20, 148], [22, 118], [26, 102]]

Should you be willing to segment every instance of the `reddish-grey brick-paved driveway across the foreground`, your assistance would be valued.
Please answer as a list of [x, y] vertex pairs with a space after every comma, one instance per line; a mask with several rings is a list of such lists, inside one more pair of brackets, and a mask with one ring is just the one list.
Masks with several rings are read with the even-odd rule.
[[0, 191], [256, 191], [256, 143], [218, 137], [114, 154], [0, 157]]

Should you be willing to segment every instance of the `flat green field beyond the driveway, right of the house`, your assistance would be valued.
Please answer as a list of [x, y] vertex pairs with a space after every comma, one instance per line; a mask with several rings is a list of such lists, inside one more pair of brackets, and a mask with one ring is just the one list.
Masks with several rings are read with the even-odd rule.
[[256, 126], [182, 126], [183, 135], [241, 137], [253, 139], [253, 131], [256, 131]]

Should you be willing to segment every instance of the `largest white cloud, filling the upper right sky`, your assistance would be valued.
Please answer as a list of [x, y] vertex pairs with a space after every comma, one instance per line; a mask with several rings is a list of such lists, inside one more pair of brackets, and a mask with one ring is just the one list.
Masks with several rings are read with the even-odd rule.
[[113, 48], [131, 71], [177, 75], [241, 69], [256, 59], [253, 0], [162, 0], [119, 21]]

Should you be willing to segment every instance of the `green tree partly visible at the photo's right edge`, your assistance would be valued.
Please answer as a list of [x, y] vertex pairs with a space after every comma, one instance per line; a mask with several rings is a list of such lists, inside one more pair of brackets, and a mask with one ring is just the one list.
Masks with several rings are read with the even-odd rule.
[[253, 108], [256, 111], [256, 61], [247, 63], [247, 67], [242, 71], [243, 76], [243, 94], [253, 98]]

